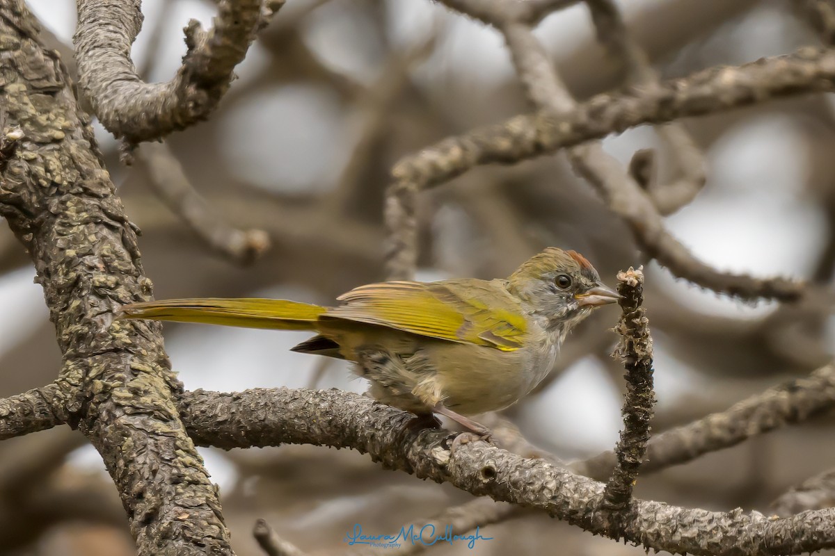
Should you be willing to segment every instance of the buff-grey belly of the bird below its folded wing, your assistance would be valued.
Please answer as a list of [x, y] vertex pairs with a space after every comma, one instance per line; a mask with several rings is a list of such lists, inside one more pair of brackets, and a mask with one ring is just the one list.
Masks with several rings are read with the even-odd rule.
[[503, 352], [445, 343], [428, 349], [428, 359], [438, 369], [443, 404], [465, 415], [513, 405], [542, 381], [555, 358], [555, 350], [529, 348]]

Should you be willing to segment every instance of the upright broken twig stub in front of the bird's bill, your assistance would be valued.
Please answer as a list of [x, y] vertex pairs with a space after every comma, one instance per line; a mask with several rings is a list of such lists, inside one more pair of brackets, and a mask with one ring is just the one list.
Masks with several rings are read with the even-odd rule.
[[603, 492], [602, 508], [624, 510], [632, 498], [632, 486], [644, 463], [646, 443], [650, 439], [650, 420], [655, 404], [652, 388], [652, 338], [645, 317], [644, 273], [630, 268], [618, 273], [618, 293], [623, 314], [616, 327], [620, 344], [615, 355], [626, 367], [626, 397], [623, 406], [624, 428], [620, 431], [615, 453], [618, 463]]

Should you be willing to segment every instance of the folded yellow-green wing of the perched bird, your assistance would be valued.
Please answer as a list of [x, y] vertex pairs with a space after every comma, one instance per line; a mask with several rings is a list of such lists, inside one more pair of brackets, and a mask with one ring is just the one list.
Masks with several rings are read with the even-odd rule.
[[384, 282], [343, 294], [323, 318], [343, 318], [458, 343], [513, 351], [523, 346], [527, 322], [498, 282], [445, 280]]

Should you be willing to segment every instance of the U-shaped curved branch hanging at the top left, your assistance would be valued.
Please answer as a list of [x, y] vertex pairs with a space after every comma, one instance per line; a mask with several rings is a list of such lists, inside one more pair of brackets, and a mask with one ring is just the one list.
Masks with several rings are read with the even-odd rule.
[[[274, 4], [271, 4], [274, 7]], [[188, 52], [168, 83], [143, 83], [130, 60], [142, 26], [139, 0], [78, 0], [78, 83], [105, 128], [129, 144], [205, 119], [220, 102], [264, 22], [261, 0], [221, 0], [208, 32], [191, 20]]]

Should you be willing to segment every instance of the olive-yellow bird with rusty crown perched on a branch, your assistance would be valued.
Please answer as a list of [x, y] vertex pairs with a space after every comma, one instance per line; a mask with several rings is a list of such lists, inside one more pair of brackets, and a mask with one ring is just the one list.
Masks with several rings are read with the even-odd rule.
[[620, 295], [579, 253], [549, 247], [509, 278], [392, 281], [354, 288], [325, 307], [284, 299], [190, 298], [129, 303], [119, 318], [308, 330], [292, 351], [341, 358], [382, 403], [481, 438], [470, 418], [508, 408], [554, 367], [566, 336]]

